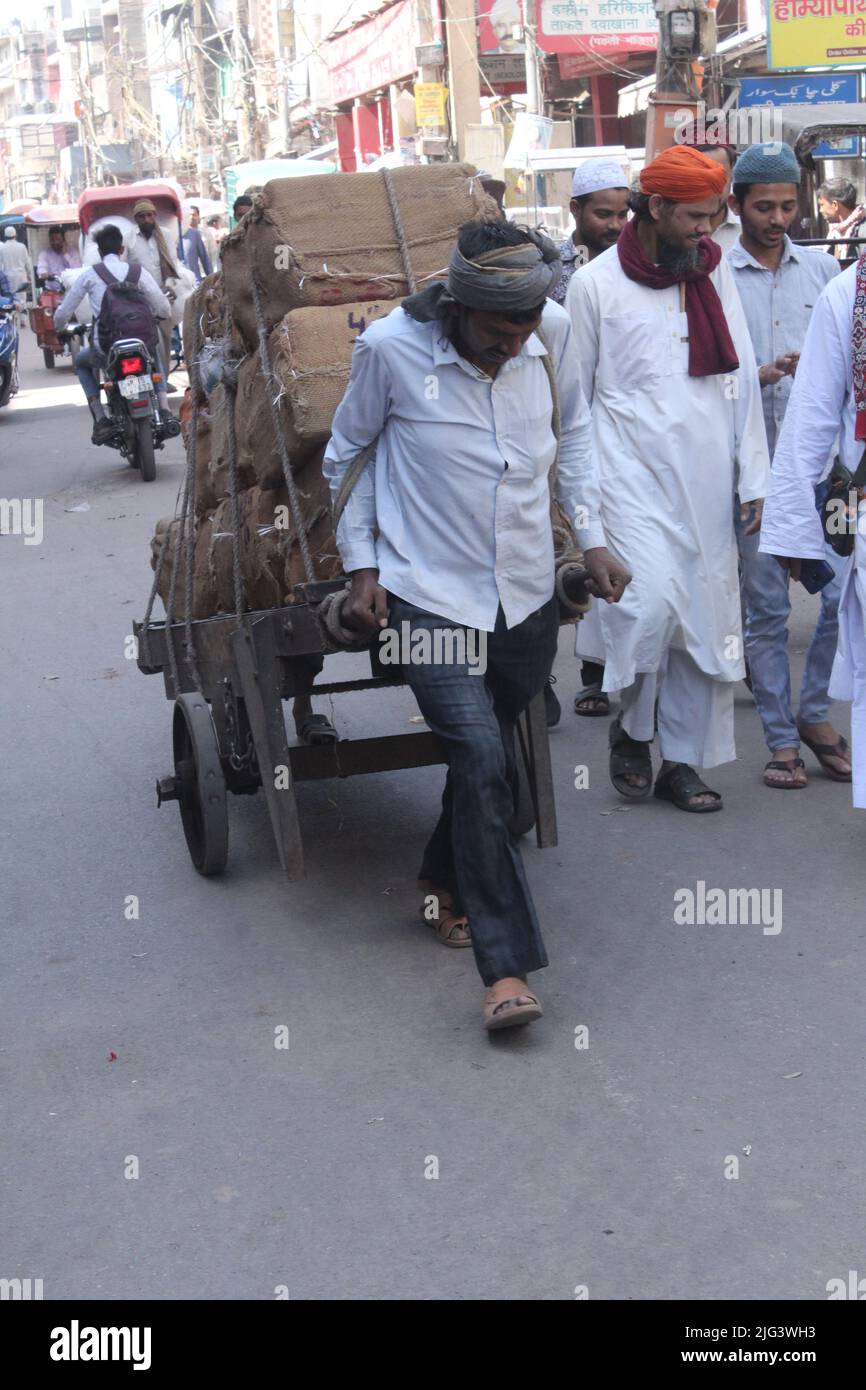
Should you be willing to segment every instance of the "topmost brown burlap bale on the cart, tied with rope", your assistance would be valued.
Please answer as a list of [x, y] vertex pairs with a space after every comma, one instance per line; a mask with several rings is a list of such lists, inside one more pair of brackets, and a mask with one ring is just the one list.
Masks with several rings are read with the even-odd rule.
[[[418, 288], [448, 265], [457, 228], [498, 220], [471, 164], [391, 170]], [[381, 174], [313, 174], [265, 183], [222, 240], [225, 297], [245, 342], [259, 346], [250, 289], [254, 270], [268, 332], [291, 309], [395, 300], [409, 293]]]

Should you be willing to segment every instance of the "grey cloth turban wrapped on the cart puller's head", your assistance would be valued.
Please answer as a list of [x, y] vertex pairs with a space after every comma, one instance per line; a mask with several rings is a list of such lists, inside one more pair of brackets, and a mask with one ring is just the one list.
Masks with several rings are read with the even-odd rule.
[[438, 281], [403, 300], [411, 318], [438, 318], [443, 302], [484, 309], [495, 314], [523, 313], [542, 304], [562, 274], [559, 249], [542, 232], [521, 227], [520, 246], [496, 246], [467, 260], [455, 246], [448, 267], [448, 284]]

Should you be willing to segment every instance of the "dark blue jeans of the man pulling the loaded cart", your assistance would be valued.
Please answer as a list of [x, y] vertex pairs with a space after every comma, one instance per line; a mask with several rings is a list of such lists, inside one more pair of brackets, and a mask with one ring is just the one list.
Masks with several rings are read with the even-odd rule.
[[[391, 595], [389, 627], [410, 632], [459, 624]], [[541, 970], [548, 956], [523, 860], [509, 821], [514, 812], [514, 724], [544, 689], [556, 653], [559, 605], [550, 599], [510, 630], [502, 609], [485, 634], [487, 671], [434, 660], [403, 666], [424, 719], [448, 752], [442, 813], [420, 878], [453, 895], [473, 934], [485, 984]], [[435, 648], [434, 648], [435, 651]]]

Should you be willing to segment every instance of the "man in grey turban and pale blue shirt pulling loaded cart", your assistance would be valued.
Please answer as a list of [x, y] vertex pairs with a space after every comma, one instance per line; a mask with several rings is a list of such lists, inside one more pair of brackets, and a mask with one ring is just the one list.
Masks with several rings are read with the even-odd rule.
[[[582, 523], [602, 596], [614, 602], [630, 578], [598, 521], [567, 316], [545, 303], [557, 275], [556, 247], [539, 234], [466, 224], [448, 285], [413, 295], [359, 338], [324, 464], [336, 499], [350, 463], [378, 441], [336, 532], [352, 575], [346, 617], [409, 638], [403, 651], [418, 644], [421, 659], [400, 664], [449, 762], [418, 885], [439, 938], [474, 947], [488, 1029], [541, 1016], [527, 974], [546, 965], [509, 821], [514, 721], [545, 685], [559, 628], [548, 353], [560, 404], [556, 496]], [[480, 645], [485, 667], [424, 656], [424, 642], [435, 653], [448, 632], [463, 635], [464, 651]]]

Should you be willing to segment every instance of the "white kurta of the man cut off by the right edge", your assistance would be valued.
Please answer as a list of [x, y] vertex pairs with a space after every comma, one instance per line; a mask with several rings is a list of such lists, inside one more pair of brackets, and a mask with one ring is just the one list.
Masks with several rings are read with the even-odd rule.
[[[803, 342], [784, 424], [773, 456], [760, 549], [799, 574], [801, 560], [824, 559], [815, 488], [838, 435], [838, 456], [851, 474], [863, 455], [855, 436], [853, 310], [858, 261], [831, 279], [817, 300]], [[863, 431], [862, 431], [863, 434]], [[851, 742], [853, 805], [866, 808], [866, 502], [859, 502], [853, 566], [840, 599], [840, 638], [830, 695], [853, 701]]]

